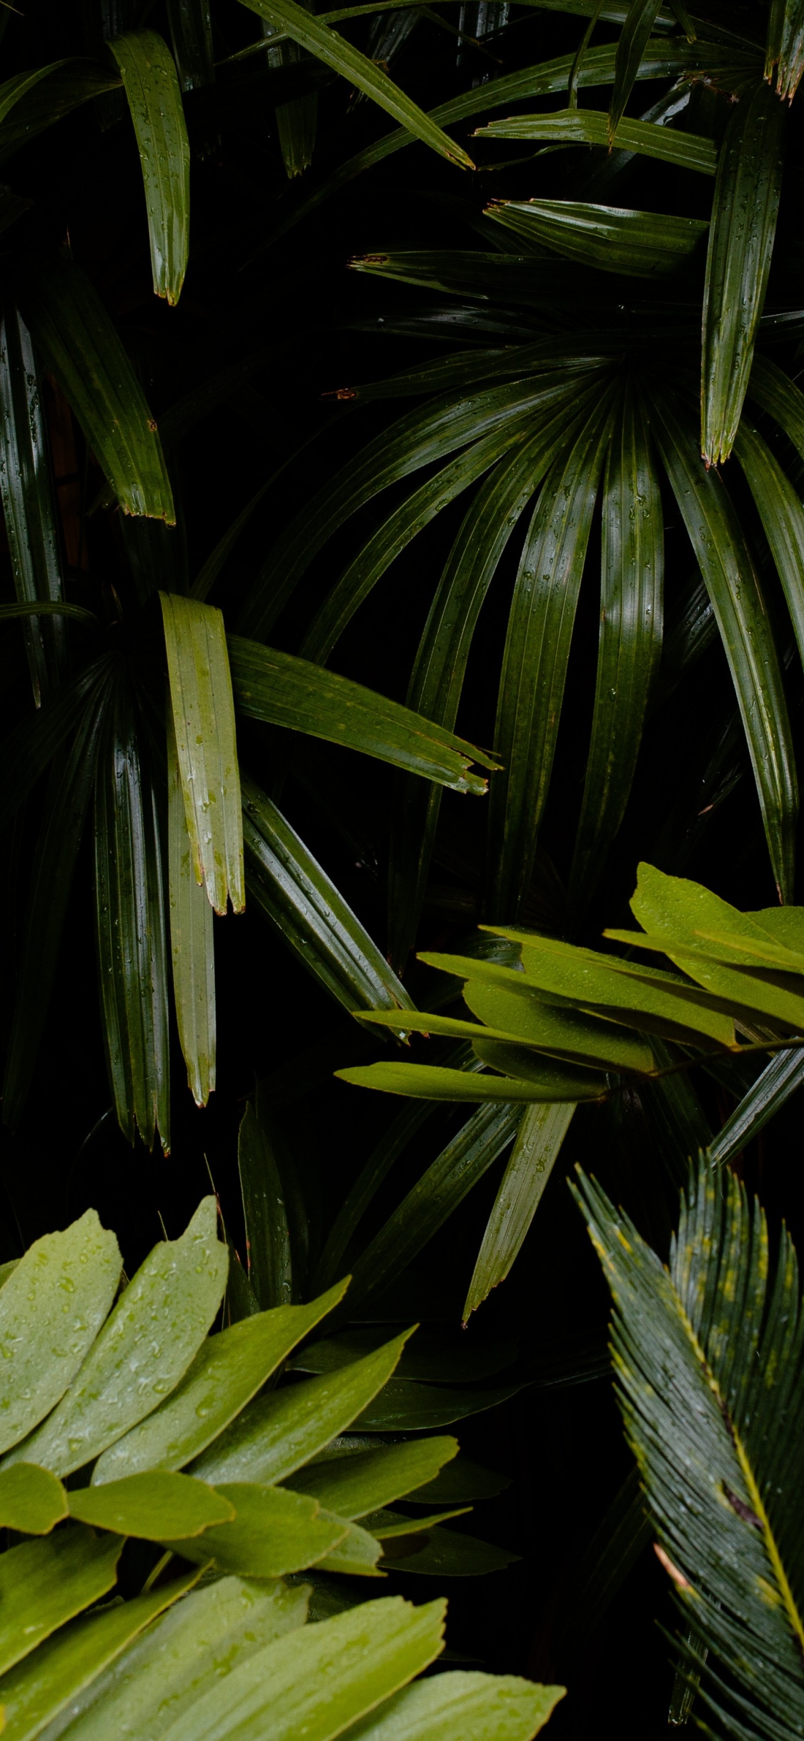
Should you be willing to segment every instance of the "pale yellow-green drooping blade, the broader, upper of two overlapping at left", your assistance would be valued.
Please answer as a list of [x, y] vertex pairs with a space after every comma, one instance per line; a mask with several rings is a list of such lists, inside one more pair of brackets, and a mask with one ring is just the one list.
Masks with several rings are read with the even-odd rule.
[[216, 912], [242, 912], [244, 839], [235, 707], [223, 616], [160, 592], [171, 707], [195, 881]]

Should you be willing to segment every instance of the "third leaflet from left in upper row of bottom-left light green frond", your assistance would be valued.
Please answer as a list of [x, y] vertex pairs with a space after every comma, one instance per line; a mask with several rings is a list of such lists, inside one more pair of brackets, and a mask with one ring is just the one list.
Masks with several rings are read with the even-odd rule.
[[278, 1306], [207, 1337], [172, 1396], [97, 1459], [92, 1485], [136, 1469], [181, 1469], [200, 1455], [345, 1292], [339, 1281], [310, 1306]]

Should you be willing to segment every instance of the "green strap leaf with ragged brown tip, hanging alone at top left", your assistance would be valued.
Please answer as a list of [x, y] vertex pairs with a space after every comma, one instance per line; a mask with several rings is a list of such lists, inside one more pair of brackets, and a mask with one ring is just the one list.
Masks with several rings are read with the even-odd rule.
[[155, 30], [111, 37], [143, 165], [153, 294], [181, 296], [190, 251], [190, 141], [176, 63]]

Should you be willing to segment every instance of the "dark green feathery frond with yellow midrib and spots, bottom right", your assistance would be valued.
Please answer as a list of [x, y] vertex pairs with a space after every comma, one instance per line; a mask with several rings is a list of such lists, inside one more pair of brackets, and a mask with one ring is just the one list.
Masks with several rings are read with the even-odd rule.
[[804, 1313], [790, 1236], [781, 1227], [771, 1264], [762, 1210], [703, 1161], [667, 1267], [583, 1173], [576, 1194], [613, 1292], [620, 1407], [701, 1718], [729, 1736], [801, 1736]]

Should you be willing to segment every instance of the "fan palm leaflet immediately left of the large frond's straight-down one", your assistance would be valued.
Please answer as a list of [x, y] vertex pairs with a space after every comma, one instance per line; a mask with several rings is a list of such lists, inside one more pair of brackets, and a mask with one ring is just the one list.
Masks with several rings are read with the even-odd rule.
[[583, 427], [573, 430], [569, 451], [559, 451], [522, 547], [494, 733], [505, 771], [491, 794], [492, 918], [519, 912], [531, 883], [611, 423], [613, 392], [607, 390]]

